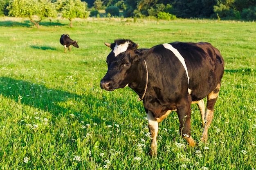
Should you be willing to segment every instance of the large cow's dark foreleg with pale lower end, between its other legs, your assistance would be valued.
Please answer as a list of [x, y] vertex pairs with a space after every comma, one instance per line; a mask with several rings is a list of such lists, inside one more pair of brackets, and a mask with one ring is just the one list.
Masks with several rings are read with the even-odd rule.
[[191, 137], [191, 102], [187, 101], [177, 106], [177, 114], [180, 120], [180, 133], [189, 143], [189, 146], [195, 146], [195, 141]]

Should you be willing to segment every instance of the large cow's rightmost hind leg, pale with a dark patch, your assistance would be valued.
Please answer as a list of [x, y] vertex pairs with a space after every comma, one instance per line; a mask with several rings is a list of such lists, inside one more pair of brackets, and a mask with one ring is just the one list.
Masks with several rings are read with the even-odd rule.
[[201, 141], [204, 142], [204, 143], [207, 143], [208, 130], [209, 130], [209, 126], [211, 124], [211, 121], [213, 119], [214, 105], [216, 103], [219, 92], [220, 92], [220, 83], [217, 85], [217, 87], [209, 95], [207, 95], [207, 108], [206, 108], [206, 113], [205, 113], [205, 125], [204, 125], [203, 134], [201, 136]]

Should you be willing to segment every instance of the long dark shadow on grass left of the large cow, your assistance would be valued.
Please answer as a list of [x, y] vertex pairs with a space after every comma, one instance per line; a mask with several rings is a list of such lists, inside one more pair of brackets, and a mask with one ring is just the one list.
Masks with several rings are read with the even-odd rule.
[[[38, 108], [38, 110], [51, 112], [56, 116], [59, 114], [81, 114], [81, 110], [72, 107], [72, 102], [79, 102], [88, 97], [95, 102], [98, 100], [93, 98], [92, 95], [80, 96], [75, 93], [47, 88], [43, 83], [35, 84], [10, 77], [0, 77], [0, 95], [9, 97], [17, 103], [20, 102], [21, 104]], [[83, 116], [99, 121], [97, 117], [90, 117], [90, 115]]]

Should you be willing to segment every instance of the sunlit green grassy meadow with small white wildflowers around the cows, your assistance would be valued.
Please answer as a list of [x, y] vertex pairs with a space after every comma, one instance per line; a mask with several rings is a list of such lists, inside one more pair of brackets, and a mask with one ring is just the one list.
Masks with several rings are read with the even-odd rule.
[[[0, 18], [0, 169], [3, 170], [254, 170], [256, 169], [256, 23], [123, 18]], [[64, 53], [62, 34], [79, 48]], [[190, 148], [177, 113], [159, 123], [158, 155], [142, 102], [130, 88], [100, 88], [110, 49], [128, 38], [140, 48], [210, 42], [225, 75], [208, 143], [200, 142], [200, 111], [192, 105]]]

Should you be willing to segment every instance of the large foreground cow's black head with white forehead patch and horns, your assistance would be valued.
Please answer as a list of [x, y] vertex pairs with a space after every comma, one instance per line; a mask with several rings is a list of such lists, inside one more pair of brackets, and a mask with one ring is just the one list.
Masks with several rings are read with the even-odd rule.
[[139, 61], [138, 44], [131, 40], [119, 39], [115, 43], [105, 43], [111, 48], [107, 57], [108, 71], [101, 79], [101, 88], [113, 91], [124, 88], [131, 83], [137, 75], [137, 64]]

